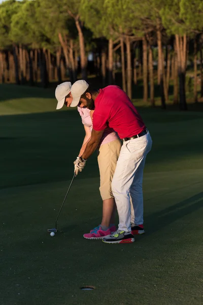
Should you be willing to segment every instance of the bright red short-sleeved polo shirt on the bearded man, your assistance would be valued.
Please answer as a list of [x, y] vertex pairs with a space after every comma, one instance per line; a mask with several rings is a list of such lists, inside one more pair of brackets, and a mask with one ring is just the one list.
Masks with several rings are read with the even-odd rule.
[[93, 129], [96, 131], [110, 127], [123, 139], [138, 135], [146, 128], [137, 109], [118, 86], [100, 89], [94, 104]]

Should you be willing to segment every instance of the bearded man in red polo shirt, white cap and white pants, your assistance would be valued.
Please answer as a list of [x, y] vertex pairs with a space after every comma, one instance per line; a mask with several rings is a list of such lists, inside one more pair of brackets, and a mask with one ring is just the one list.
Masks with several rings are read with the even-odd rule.
[[[107, 243], [133, 242], [133, 234], [144, 233], [143, 228], [143, 170], [146, 156], [151, 150], [152, 139], [140, 114], [125, 92], [118, 86], [92, 89], [84, 80], [75, 82], [71, 93], [71, 107], [78, 103], [94, 109], [93, 130], [83, 155], [76, 159], [76, 174], [94, 153], [104, 130], [113, 128], [123, 141], [112, 191], [116, 200], [119, 226], [112, 235], [103, 239]], [[130, 204], [131, 197], [131, 204]]]

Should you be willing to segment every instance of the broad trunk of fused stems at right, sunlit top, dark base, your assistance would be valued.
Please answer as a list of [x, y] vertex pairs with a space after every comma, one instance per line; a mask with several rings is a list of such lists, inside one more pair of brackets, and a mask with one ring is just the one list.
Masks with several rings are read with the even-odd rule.
[[186, 51], [187, 37], [176, 34], [176, 49], [178, 57], [178, 75], [179, 75], [179, 94], [180, 94], [180, 110], [187, 110], [186, 95], [185, 95], [185, 73], [186, 73]]

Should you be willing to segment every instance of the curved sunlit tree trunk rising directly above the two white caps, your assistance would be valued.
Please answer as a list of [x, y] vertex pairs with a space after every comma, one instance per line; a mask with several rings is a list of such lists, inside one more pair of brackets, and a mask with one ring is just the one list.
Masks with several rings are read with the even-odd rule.
[[86, 62], [86, 56], [85, 56], [85, 42], [84, 42], [84, 36], [83, 36], [81, 24], [78, 19], [76, 19], [76, 27], [77, 27], [78, 36], [79, 36], [80, 64], [81, 64], [82, 79], [87, 80], [87, 62]]

